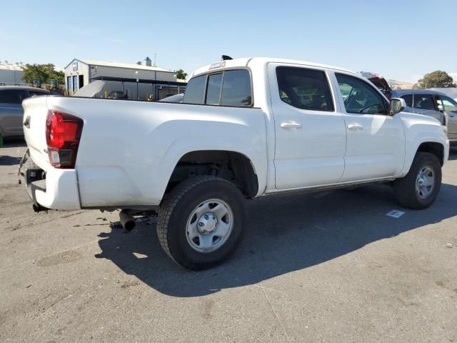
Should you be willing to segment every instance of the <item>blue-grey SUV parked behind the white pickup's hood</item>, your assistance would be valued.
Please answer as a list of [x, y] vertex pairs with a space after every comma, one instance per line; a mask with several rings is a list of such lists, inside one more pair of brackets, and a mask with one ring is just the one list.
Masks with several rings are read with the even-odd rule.
[[457, 143], [457, 102], [440, 91], [430, 89], [398, 89], [394, 96], [405, 99], [406, 112], [437, 119], [448, 130], [448, 139]]

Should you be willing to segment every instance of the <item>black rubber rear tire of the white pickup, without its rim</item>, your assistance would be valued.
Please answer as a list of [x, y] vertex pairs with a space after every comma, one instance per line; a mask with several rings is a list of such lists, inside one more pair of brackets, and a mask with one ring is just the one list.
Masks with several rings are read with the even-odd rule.
[[[199, 204], [221, 199], [231, 208], [233, 226], [226, 241], [211, 252], [198, 252], [188, 241], [187, 224]], [[245, 199], [239, 189], [219, 177], [191, 177], [178, 184], [161, 204], [157, 219], [157, 235], [166, 254], [187, 269], [213, 267], [229, 257], [241, 242]]]

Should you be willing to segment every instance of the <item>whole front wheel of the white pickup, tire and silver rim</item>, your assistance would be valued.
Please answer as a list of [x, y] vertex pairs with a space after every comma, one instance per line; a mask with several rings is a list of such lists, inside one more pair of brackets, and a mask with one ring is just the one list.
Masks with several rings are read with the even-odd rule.
[[408, 174], [393, 182], [399, 204], [410, 209], [425, 209], [436, 199], [441, 187], [441, 164], [429, 152], [418, 152]]

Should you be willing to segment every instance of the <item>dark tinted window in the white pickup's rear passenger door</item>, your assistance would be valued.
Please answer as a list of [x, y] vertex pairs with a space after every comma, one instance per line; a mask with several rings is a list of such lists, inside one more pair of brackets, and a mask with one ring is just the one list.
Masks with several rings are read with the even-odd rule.
[[333, 111], [333, 100], [325, 71], [278, 66], [279, 97], [298, 109]]

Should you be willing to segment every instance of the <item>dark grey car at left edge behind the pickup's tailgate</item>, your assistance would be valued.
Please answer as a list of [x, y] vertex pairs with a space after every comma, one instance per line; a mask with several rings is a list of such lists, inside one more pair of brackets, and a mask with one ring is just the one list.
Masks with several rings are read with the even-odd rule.
[[46, 89], [26, 86], [0, 86], [0, 134], [5, 138], [24, 136], [21, 103], [31, 96], [49, 95]]

